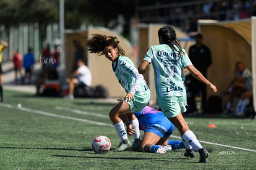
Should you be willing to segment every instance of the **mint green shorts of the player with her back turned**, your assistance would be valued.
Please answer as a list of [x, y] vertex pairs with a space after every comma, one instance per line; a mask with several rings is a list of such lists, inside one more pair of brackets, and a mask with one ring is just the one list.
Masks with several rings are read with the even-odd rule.
[[157, 101], [161, 111], [163, 111], [164, 115], [166, 115], [168, 118], [174, 118], [179, 115], [179, 113], [184, 113], [187, 111], [187, 95], [181, 97], [158, 97]]

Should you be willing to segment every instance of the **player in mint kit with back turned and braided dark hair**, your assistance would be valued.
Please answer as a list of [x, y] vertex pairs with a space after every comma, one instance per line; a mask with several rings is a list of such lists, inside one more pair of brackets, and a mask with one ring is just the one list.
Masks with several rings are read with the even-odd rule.
[[213, 89], [213, 92], [217, 91], [216, 86], [192, 65], [186, 51], [177, 42], [173, 27], [161, 27], [158, 30], [158, 38], [160, 44], [151, 46], [148, 50], [139, 66], [139, 73], [145, 73], [148, 65], [152, 63], [158, 105], [169, 121], [179, 130], [186, 147], [184, 156], [193, 158], [195, 157], [194, 150], [196, 150], [200, 153], [199, 162], [207, 163], [208, 151], [202, 147], [182, 115], [187, 105], [184, 69], [187, 68], [195, 78]]

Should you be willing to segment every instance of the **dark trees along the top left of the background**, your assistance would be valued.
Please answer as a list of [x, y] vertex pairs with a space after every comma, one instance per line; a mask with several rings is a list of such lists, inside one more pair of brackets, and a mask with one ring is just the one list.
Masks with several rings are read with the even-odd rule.
[[[65, 0], [65, 28], [79, 29], [82, 23], [112, 28], [118, 16], [124, 17], [124, 34], [129, 34], [129, 22], [135, 12], [135, 0]], [[46, 37], [46, 26], [59, 22], [59, 0], [1, 0], [0, 26], [34, 24], [40, 39]], [[111, 23], [111, 24], [109, 24]]]

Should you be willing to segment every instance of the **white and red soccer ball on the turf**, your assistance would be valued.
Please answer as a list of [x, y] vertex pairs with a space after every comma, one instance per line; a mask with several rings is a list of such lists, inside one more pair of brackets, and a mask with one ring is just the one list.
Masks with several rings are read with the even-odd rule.
[[92, 150], [95, 153], [108, 153], [111, 142], [106, 136], [96, 136], [92, 141]]

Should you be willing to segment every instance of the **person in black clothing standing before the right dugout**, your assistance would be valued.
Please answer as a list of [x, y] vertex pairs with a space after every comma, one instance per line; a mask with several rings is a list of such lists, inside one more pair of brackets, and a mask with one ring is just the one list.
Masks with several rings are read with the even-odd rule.
[[[211, 51], [208, 46], [203, 44], [203, 35], [197, 34], [195, 36], [195, 44], [190, 46], [189, 48], [189, 59], [199, 70], [205, 78], [207, 78], [207, 69], [210, 67], [212, 60], [211, 60]], [[201, 111], [205, 111], [207, 105], [207, 91], [206, 85], [198, 81], [194, 78], [194, 76], [190, 76], [190, 92], [191, 92], [191, 101], [190, 103], [190, 111], [194, 112], [197, 111], [195, 97], [202, 97], [202, 107]]]

